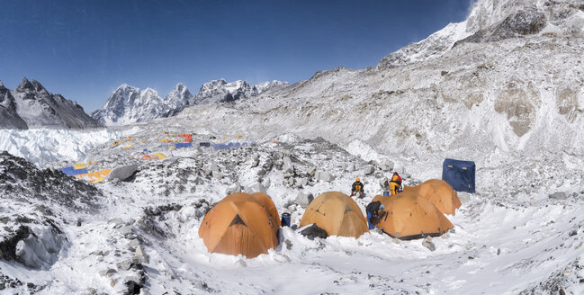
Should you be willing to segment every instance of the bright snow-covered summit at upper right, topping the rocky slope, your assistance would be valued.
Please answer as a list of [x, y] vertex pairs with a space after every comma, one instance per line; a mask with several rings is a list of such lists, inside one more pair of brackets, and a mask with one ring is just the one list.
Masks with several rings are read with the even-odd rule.
[[450, 23], [425, 40], [410, 43], [382, 58], [378, 68], [391, 68], [442, 56], [464, 42], [490, 42], [545, 32], [582, 36], [581, 0], [479, 0], [464, 22]]

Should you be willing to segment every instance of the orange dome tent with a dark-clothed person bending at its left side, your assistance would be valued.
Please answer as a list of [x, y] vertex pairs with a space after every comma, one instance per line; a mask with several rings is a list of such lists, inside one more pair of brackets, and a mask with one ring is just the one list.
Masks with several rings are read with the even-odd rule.
[[380, 211], [381, 219], [375, 226], [391, 237], [406, 240], [437, 237], [454, 228], [431, 201], [416, 192], [400, 192], [391, 197], [378, 195], [373, 201], [380, 201], [384, 206]]

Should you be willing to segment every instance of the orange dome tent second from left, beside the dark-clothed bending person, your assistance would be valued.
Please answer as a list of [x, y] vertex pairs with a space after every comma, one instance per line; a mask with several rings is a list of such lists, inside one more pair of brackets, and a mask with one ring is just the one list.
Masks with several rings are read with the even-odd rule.
[[357, 238], [369, 231], [359, 205], [343, 192], [325, 192], [310, 202], [300, 226], [313, 223], [328, 236]]

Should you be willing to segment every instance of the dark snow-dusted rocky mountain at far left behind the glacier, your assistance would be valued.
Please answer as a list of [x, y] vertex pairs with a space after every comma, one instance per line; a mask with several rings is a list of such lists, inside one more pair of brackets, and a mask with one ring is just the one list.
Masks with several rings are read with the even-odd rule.
[[100, 127], [76, 102], [50, 94], [36, 80], [22, 79], [14, 90], [0, 86], [2, 128], [85, 129]]

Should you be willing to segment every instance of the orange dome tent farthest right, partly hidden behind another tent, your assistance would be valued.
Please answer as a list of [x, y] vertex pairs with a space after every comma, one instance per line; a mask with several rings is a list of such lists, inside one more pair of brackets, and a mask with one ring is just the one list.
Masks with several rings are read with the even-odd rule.
[[430, 179], [417, 186], [412, 186], [406, 191], [418, 192], [424, 198], [434, 203], [434, 206], [443, 214], [455, 215], [456, 209], [461, 207], [461, 200], [453, 188], [440, 179]]

